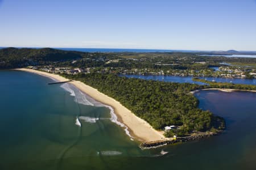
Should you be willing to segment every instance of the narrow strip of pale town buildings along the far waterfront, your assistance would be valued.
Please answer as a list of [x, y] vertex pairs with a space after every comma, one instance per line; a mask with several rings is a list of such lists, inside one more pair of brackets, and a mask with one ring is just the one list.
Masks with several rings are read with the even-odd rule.
[[[108, 61], [109, 62], [109, 61]], [[173, 76], [196, 76], [196, 77], [222, 77], [222, 78], [256, 78], [256, 70], [237, 66], [209, 67], [204, 70], [154, 70], [154, 69], [125, 69], [123, 67], [56, 67], [28, 66], [30, 69], [42, 70], [55, 74], [79, 74], [79, 73], [117, 73], [130, 75], [173, 75]]]

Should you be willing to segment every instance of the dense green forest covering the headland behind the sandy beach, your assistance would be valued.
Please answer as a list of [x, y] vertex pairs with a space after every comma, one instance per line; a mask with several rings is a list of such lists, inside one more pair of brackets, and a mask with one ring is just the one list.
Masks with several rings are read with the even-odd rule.
[[168, 131], [167, 137], [225, 128], [222, 118], [197, 108], [199, 101], [189, 94], [190, 91], [204, 88], [197, 84], [158, 82], [101, 73], [62, 76], [80, 80], [113, 97], [157, 130], [170, 125], [179, 127]]

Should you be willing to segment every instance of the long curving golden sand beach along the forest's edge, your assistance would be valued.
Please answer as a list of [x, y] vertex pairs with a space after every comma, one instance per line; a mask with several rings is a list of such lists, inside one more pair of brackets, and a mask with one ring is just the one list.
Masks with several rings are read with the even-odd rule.
[[[39, 70], [32, 69], [14, 69], [17, 71], [27, 71], [29, 73], [35, 73], [42, 76], [47, 76], [48, 78], [53, 78], [59, 81], [67, 81], [67, 78], [64, 78], [57, 74], [46, 73]], [[117, 116], [119, 122], [127, 126], [129, 133], [132, 137], [135, 137], [138, 141], [142, 142], [151, 142], [151, 141], [159, 141], [163, 139], [168, 139], [164, 137], [163, 131], [157, 131], [148, 122], [142, 120], [142, 118], [137, 117], [134, 113], [132, 113], [129, 109], [124, 107], [119, 101], [109, 97], [101, 92], [99, 92], [96, 88], [90, 87], [85, 83], [73, 80], [72, 82], [68, 82], [78, 88], [80, 91], [84, 92], [86, 95], [89, 95], [94, 100], [99, 101], [102, 104], [108, 105], [114, 109], [114, 113]], [[125, 129], [123, 129], [125, 130]]]

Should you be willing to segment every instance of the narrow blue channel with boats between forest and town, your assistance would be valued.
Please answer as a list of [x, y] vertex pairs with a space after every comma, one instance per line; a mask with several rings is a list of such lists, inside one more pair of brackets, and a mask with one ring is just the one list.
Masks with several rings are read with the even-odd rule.
[[[127, 78], [140, 78], [144, 80], [158, 80], [164, 82], [176, 82], [176, 83], [195, 83], [195, 84], [205, 84], [201, 82], [195, 82], [192, 80], [192, 76], [171, 76], [171, 75], [121, 75]], [[214, 78], [214, 77], [204, 77], [201, 79], [206, 79], [208, 81], [214, 80], [215, 82], [226, 82], [234, 84], [253, 84], [256, 85], [256, 79], [241, 79], [241, 78]]]

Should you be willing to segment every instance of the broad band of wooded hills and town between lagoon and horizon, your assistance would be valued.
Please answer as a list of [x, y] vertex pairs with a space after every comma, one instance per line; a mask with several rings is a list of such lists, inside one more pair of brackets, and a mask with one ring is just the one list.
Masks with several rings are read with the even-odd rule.
[[[51, 48], [6, 48], [0, 52], [0, 67], [3, 69], [11, 69], [14, 66], [32, 67], [56, 74], [114, 73], [246, 79], [253, 79], [256, 76], [255, 58], [209, 57], [182, 52], [83, 53]], [[11, 55], [6, 57], [9, 53]], [[16, 63], [17, 57], [19, 63]]]

